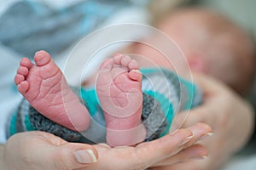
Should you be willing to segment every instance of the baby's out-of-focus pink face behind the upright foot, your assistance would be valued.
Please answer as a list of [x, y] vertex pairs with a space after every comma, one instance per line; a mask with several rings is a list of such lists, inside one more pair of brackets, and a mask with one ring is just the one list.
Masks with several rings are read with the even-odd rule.
[[[134, 44], [133, 53], [144, 56], [155, 65], [170, 68], [179, 75], [187, 75], [190, 72], [189, 49], [197, 45], [195, 40], [204, 38], [204, 31], [191, 22], [194, 23], [183, 17], [167, 18], [158, 26], [161, 35], [155, 34], [143, 41], [146, 43]], [[140, 65], [148, 66], [150, 62], [142, 60]]]

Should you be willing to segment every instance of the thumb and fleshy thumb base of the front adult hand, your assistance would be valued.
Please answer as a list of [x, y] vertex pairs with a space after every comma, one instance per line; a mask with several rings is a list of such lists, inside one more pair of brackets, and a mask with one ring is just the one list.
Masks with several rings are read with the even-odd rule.
[[97, 152], [89, 144], [67, 143], [50, 133], [26, 132], [12, 136], [1, 145], [0, 169], [65, 170], [90, 167]]

